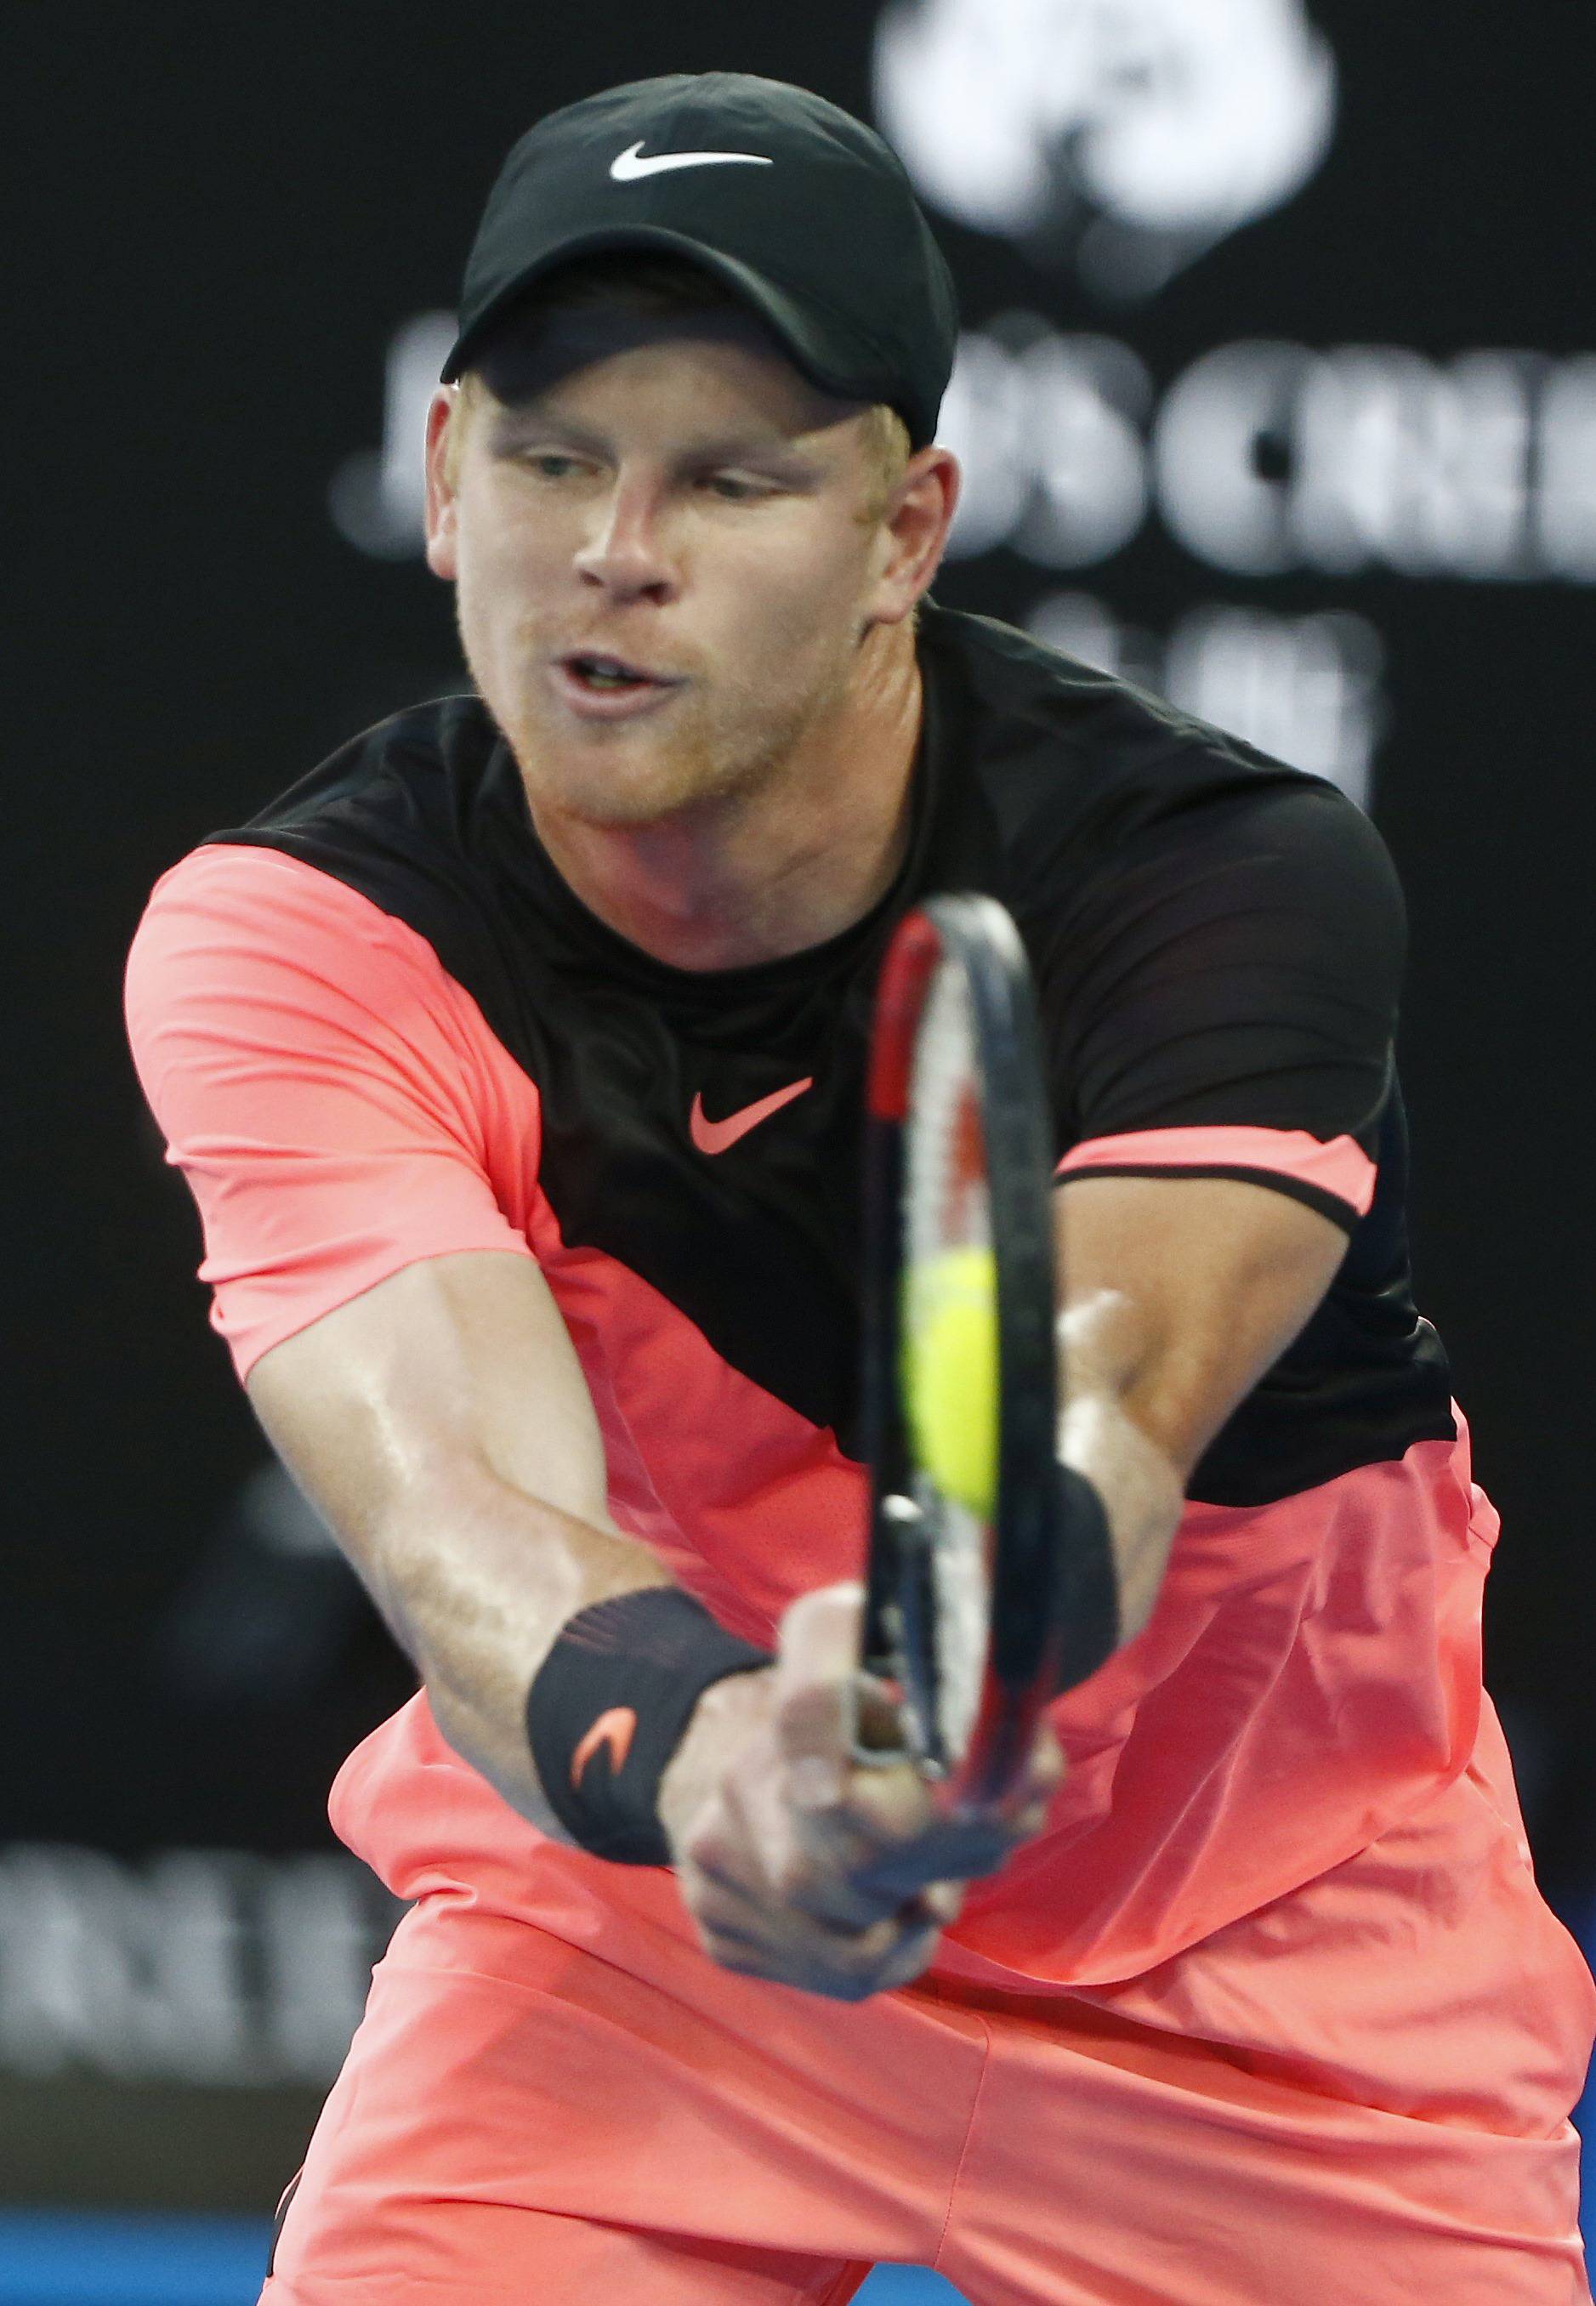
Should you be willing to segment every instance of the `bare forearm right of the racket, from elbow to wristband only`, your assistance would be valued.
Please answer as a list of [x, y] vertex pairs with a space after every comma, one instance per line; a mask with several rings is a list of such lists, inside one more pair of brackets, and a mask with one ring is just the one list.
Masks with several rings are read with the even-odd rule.
[[1153, 1614], [1181, 1522], [1183, 1469], [1158, 1437], [1149, 1402], [1158, 1365], [1130, 1310], [1107, 1291], [1059, 1324], [1063, 1418], [1059, 1455], [1091, 1480], [1109, 1524], [1119, 1580], [1119, 1637]]

